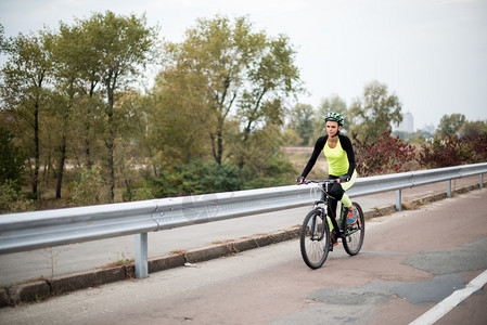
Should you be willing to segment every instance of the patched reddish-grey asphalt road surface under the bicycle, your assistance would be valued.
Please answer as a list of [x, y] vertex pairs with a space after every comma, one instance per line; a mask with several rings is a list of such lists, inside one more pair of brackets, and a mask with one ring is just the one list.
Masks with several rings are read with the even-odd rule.
[[[487, 269], [487, 190], [374, 218], [362, 251], [308, 269], [297, 240], [41, 303], [0, 324], [409, 324]], [[486, 286], [437, 324], [487, 324]]]

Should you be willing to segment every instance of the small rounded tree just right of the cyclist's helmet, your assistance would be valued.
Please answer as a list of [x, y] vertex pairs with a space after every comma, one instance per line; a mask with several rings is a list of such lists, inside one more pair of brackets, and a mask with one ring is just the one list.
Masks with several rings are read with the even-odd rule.
[[387, 86], [372, 81], [366, 86], [363, 98], [351, 103], [349, 116], [354, 117], [354, 131], [359, 138], [377, 139], [392, 131], [392, 123], [402, 121], [401, 104], [395, 94], [388, 94]]

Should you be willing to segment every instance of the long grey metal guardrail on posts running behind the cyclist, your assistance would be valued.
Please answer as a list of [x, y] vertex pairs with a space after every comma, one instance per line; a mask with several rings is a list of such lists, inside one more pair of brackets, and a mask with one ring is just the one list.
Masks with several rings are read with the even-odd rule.
[[[396, 191], [483, 173], [487, 162], [360, 178], [350, 197]], [[311, 191], [310, 191], [311, 190]], [[89, 206], [0, 216], [0, 253], [26, 251], [74, 243], [136, 234], [136, 277], [148, 276], [148, 232], [239, 218], [310, 205], [317, 185], [291, 185], [260, 190], [172, 197], [134, 203]]]

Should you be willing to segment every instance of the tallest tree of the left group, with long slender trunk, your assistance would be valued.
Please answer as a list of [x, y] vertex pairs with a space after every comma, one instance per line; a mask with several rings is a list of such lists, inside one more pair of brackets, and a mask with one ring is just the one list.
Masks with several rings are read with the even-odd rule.
[[[98, 79], [106, 95], [103, 142], [107, 150], [107, 173], [111, 200], [115, 188], [115, 150], [117, 130], [116, 102], [126, 87], [139, 77], [154, 58], [156, 28], [146, 27], [145, 16], [118, 16], [111, 11], [95, 13], [79, 21], [84, 34], [91, 39], [92, 54], [98, 61]], [[95, 80], [95, 79], [93, 79]]]

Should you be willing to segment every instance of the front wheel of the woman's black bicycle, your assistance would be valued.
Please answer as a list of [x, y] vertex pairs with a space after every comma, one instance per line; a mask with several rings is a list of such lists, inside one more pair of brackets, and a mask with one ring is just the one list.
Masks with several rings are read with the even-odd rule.
[[321, 210], [312, 210], [306, 216], [299, 243], [306, 265], [311, 269], [323, 265], [330, 250], [330, 227]]

